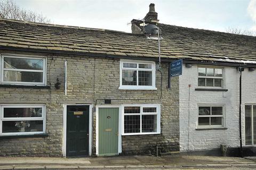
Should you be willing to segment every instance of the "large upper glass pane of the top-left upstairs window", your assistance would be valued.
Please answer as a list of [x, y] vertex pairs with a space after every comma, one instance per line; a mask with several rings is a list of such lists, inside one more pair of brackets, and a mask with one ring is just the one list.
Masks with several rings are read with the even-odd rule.
[[43, 60], [4, 57], [4, 68], [43, 70]]

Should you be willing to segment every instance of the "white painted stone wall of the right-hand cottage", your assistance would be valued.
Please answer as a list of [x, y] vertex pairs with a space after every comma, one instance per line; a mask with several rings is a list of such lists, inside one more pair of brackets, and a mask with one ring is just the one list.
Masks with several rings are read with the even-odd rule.
[[[207, 67], [207, 66], [206, 66]], [[196, 151], [227, 147], [239, 147], [239, 72], [236, 67], [223, 68], [223, 89], [228, 91], [196, 91], [198, 65], [183, 65], [180, 76], [180, 151]], [[242, 132], [244, 140], [244, 104], [256, 104], [256, 71], [245, 69], [242, 73]], [[190, 104], [189, 104], [189, 84]], [[202, 88], [202, 87], [199, 87]], [[198, 105], [224, 105], [225, 130], [196, 130]], [[190, 115], [190, 116], [189, 116]], [[189, 125], [188, 125], [188, 122]], [[189, 132], [189, 133], [188, 133]], [[189, 139], [188, 139], [189, 137]]]

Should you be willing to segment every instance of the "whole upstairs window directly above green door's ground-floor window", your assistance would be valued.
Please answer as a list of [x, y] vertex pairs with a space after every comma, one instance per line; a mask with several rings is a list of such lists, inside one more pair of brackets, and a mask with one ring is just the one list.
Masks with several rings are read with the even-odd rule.
[[156, 90], [155, 62], [120, 61], [120, 87], [131, 90]]

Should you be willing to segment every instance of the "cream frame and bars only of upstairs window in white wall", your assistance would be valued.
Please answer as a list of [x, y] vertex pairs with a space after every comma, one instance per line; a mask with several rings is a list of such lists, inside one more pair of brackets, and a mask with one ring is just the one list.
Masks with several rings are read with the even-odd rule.
[[[203, 68], [203, 69], [206, 69], [206, 76], [202, 76], [202, 75], [198, 75], [199, 74], [199, 68]], [[207, 69], [221, 69], [222, 70], [222, 77], [215, 77], [215, 76], [207, 76]], [[215, 75], [215, 71], [213, 71], [213, 74]], [[209, 89], [223, 89], [223, 86], [224, 86], [224, 69], [223, 67], [214, 67], [214, 66], [198, 66], [197, 67], [197, 86], [200, 87], [200, 88], [209, 88]], [[199, 86], [198, 84], [198, 79], [199, 78], [204, 78], [205, 79], [205, 86]], [[206, 86], [206, 82], [207, 80], [206, 79], [213, 79], [213, 86]], [[215, 87], [214, 86], [214, 81], [215, 79], [221, 79], [221, 87]]]

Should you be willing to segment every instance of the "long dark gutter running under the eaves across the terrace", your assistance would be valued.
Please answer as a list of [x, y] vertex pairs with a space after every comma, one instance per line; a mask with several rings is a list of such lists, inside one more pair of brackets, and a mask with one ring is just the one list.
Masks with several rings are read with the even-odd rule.
[[[85, 52], [72, 52], [64, 50], [49, 50], [49, 49], [31, 49], [31, 48], [21, 48], [21, 47], [5, 47], [0, 46], [0, 50], [13, 50], [17, 52], [32, 52], [32, 53], [46, 53], [49, 55], [59, 54], [59, 55], [75, 55], [75, 56], [89, 56], [89, 57], [103, 57], [103, 58], [118, 58], [118, 59], [130, 59], [130, 60], [146, 60], [146, 61], [158, 61], [157, 57], [138, 57], [138, 56], [123, 56], [123, 55], [108, 55], [99, 53], [85, 53]], [[161, 58], [162, 62], [172, 62], [181, 58]], [[203, 60], [191, 60], [182, 58], [183, 63], [188, 64], [203, 64], [203, 65], [222, 65], [222, 66], [235, 66], [239, 67], [244, 65], [246, 67], [255, 68], [256, 64], [250, 63], [232, 63], [232, 62], [221, 62], [221, 61], [203, 61]]]

